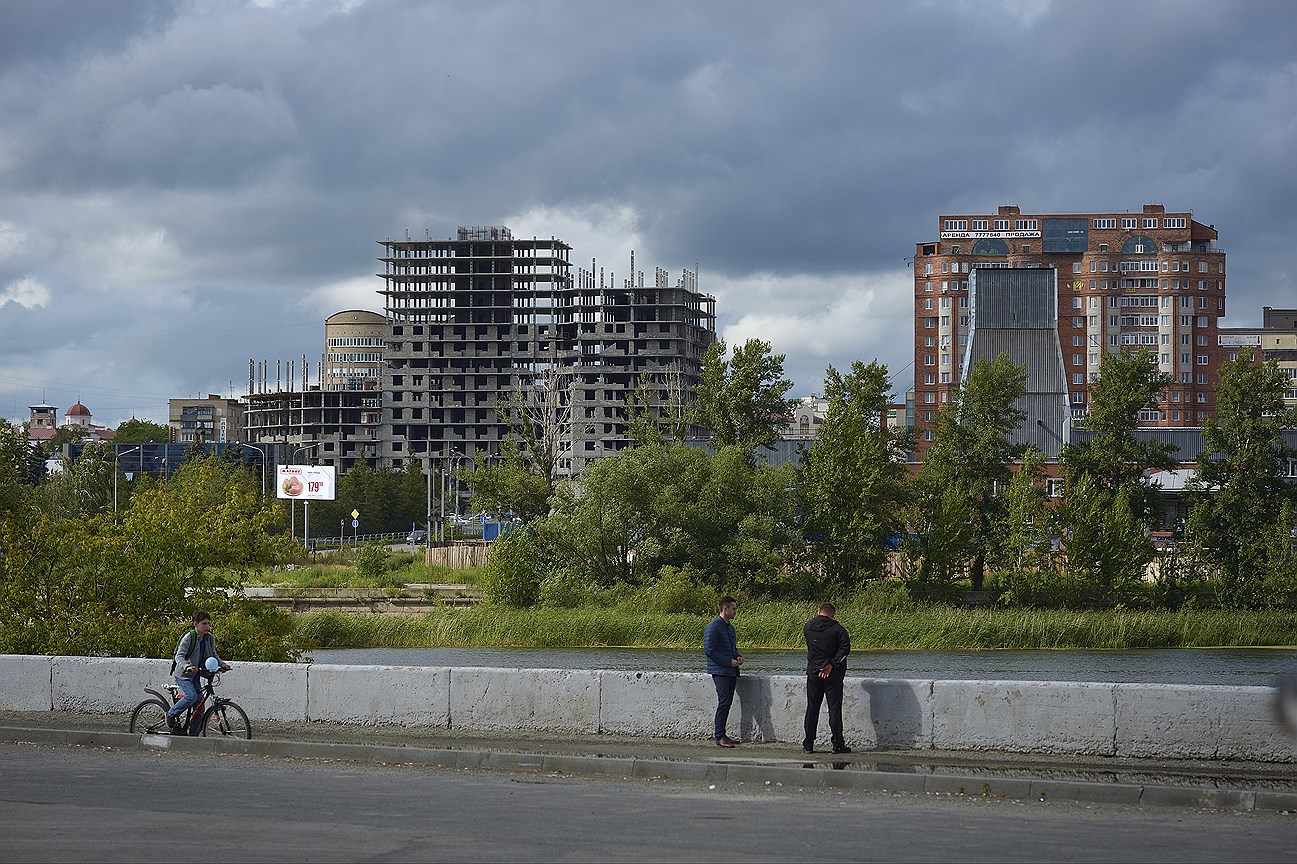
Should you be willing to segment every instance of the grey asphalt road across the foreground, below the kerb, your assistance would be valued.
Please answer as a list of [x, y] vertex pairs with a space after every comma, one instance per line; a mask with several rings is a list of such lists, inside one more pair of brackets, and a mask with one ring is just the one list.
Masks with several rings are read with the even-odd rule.
[[0, 860], [1297, 861], [1297, 815], [0, 743]]

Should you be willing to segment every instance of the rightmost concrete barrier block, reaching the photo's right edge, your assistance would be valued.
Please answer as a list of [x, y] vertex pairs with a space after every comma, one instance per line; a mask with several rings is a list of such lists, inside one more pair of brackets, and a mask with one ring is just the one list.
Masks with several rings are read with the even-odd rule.
[[1117, 754], [1294, 762], [1274, 688], [1117, 685]]

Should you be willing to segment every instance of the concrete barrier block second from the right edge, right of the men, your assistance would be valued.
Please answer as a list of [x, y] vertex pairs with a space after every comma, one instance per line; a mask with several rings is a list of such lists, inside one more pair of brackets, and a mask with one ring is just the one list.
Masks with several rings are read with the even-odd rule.
[[934, 681], [933, 746], [1113, 755], [1115, 684]]

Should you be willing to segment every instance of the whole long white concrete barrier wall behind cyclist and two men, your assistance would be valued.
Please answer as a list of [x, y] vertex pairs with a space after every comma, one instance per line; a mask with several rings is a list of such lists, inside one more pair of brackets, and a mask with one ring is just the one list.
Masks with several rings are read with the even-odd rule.
[[[0, 655], [0, 708], [125, 714], [171, 678], [170, 660]], [[239, 663], [222, 695], [257, 720], [711, 737], [703, 673]], [[802, 741], [802, 676], [739, 678], [730, 733]], [[1272, 688], [848, 676], [857, 749], [1000, 750], [1297, 763]], [[827, 743], [821, 712], [817, 739]]]

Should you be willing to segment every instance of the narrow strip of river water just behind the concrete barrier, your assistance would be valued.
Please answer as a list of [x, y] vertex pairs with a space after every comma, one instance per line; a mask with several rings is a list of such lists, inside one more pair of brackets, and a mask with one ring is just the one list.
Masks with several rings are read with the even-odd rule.
[[[742, 647], [742, 646], [741, 646]], [[664, 649], [319, 649], [314, 663], [532, 669], [704, 672], [702, 650]], [[803, 675], [804, 651], [748, 651], [743, 671]], [[852, 651], [847, 675], [939, 681], [1096, 681], [1272, 686], [1297, 673], [1293, 649], [1119, 651]]]

